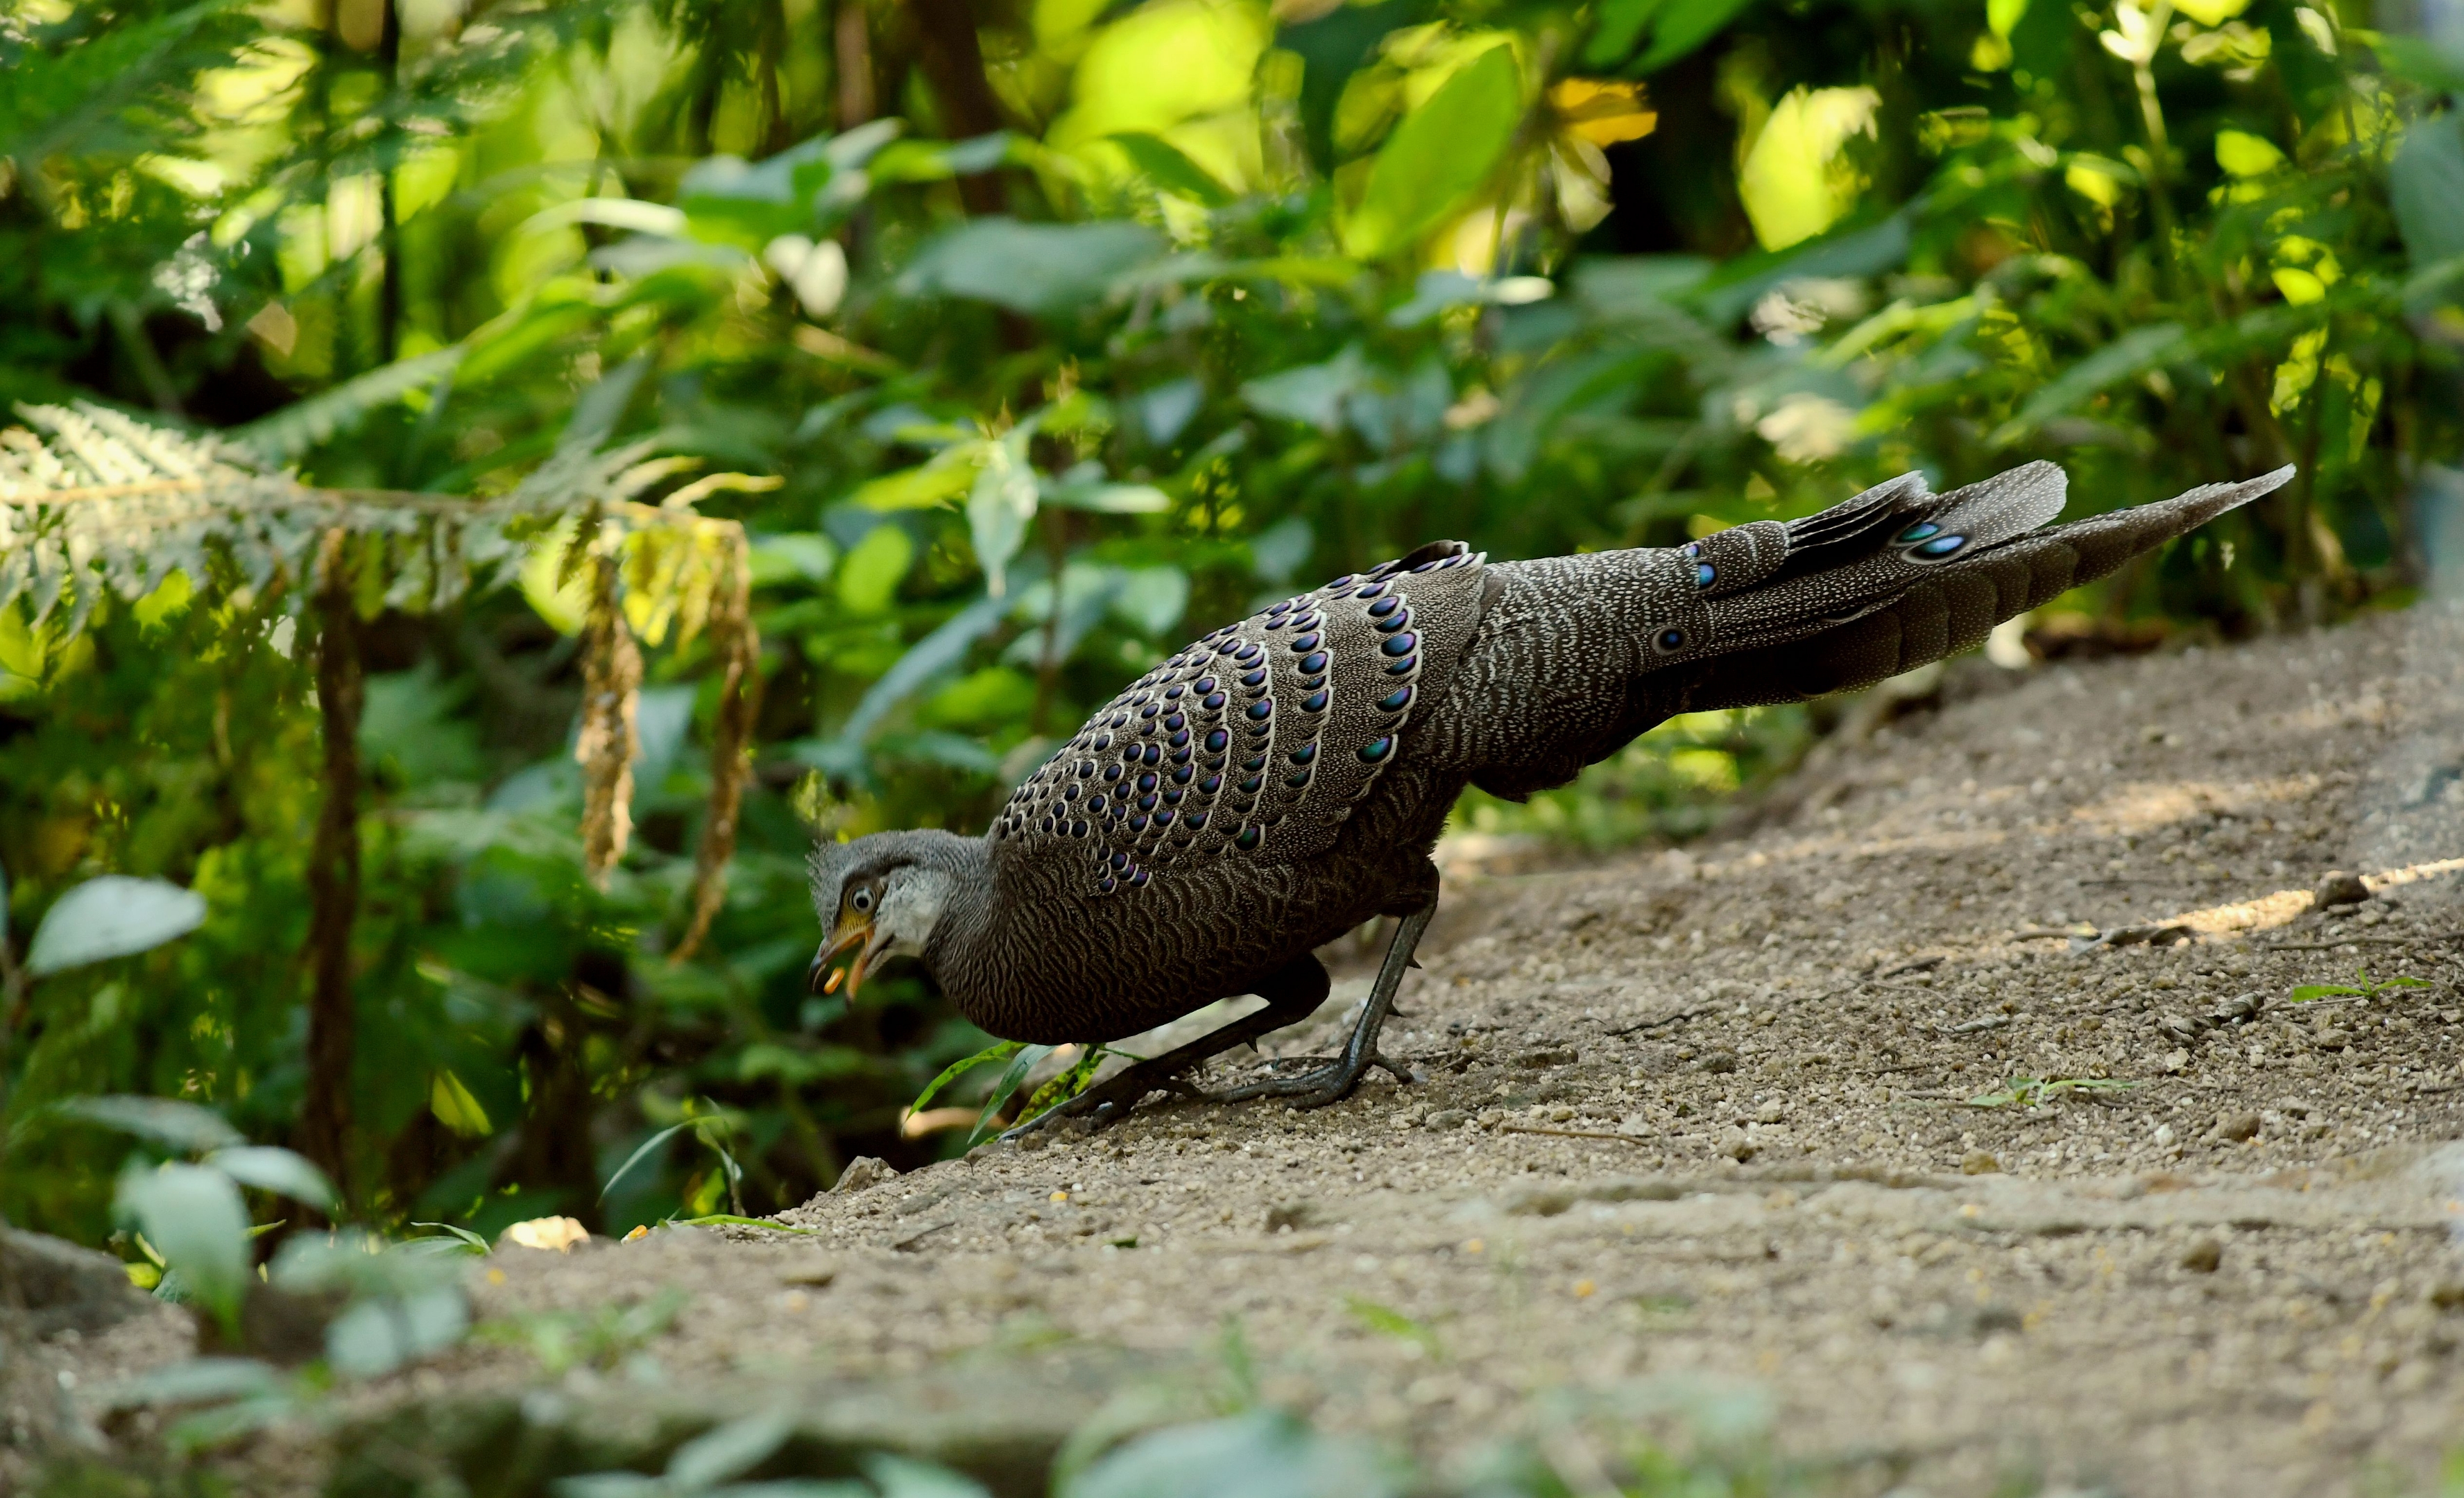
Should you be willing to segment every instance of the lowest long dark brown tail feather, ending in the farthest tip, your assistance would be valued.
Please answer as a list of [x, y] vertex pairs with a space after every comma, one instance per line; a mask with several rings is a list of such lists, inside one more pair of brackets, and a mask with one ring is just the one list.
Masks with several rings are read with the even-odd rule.
[[1996, 623], [2282, 488], [2292, 473], [2277, 468], [2242, 483], [2208, 483], [2173, 500], [2030, 530], [1971, 552], [1853, 618], [1705, 660], [1683, 710], [1801, 702], [1942, 660], [1984, 643]]

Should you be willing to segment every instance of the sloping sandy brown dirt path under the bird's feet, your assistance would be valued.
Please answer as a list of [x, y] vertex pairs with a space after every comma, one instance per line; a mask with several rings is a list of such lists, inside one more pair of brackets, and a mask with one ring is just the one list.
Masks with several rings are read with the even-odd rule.
[[[1850, 1493], [2430, 1491], [2464, 1444], [2459, 769], [2454, 616], [2040, 670], [1826, 747], [1747, 838], [1454, 880], [1390, 1030], [1417, 1087], [986, 1148], [788, 1212], [811, 1237], [498, 1252], [480, 1316], [690, 1306], [638, 1353], [663, 1392], [471, 1409], [572, 1471], [623, 1419], [825, 1390], [838, 1436], [1000, 1476], [1249, 1380], [1446, 1471], [1745, 1390]], [[2301, 914], [2331, 867], [2380, 897]], [[2287, 1003], [2358, 966], [2427, 986]], [[2016, 1077], [2126, 1087], [1964, 1101]], [[397, 1380], [537, 1382], [508, 1348]], [[436, 1409], [350, 1444], [357, 1491], [513, 1449]]]

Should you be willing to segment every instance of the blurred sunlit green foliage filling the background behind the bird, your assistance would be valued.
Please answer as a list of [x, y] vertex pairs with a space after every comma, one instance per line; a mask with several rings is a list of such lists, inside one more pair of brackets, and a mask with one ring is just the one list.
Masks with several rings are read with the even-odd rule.
[[[557, 535], [444, 609], [350, 591], [355, 1032], [310, 1062], [315, 581], [0, 606], [0, 951], [96, 875], [205, 899], [7, 963], [0, 1215], [84, 1242], [131, 1148], [89, 1094], [301, 1143], [394, 1229], [764, 1212], [949, 1148], [899, 1109], [983, 1037], [919, 981], [806, 993], [816, 830], [976, 830], [1153, 655], [1422, 540], [2299, 463], [2028, 643], [2240, 636], [2402, 601], [2464, 424], [2464, 34], [2358, 0], [0, 0], [0, 79], [10, 407], [471, 505], [604, 434], [670, 461], [648, 505], [742, 522], [759, 633], [727, 899], [673, 961], [715, 636], [633, 618], [601, 880]], [[1809, 732], [1683, 719], [1464, 820], [1690, 835]]]

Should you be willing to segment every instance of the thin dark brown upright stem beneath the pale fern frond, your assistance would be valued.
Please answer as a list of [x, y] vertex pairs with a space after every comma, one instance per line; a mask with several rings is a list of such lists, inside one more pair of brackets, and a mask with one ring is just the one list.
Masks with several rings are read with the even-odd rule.
[[308, 850], [308, 1099], [298, 1146], [350, 1200], [350, 1069], [357, 1013], [350, 926], [360, 914], [360, 618], [350, 599], [345, 535], [325, 532], [315, 695], [325, 737], [325, 803]]

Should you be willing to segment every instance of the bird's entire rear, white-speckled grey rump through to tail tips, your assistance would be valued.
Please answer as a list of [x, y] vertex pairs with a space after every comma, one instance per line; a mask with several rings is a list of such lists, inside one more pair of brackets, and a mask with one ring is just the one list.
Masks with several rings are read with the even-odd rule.
[[1496, 606], [1441, 715], [1444, 749], [1506, 798], [1562, 786], [1634, 734], [1705, 707], [1863, 687], [1981, 643], [1993, 626], [2292, 478], [2279, 468], [2070, 525], [2062, 471], [2028, 463], [1927, 493], [1917, 473], [1804, 520], [1685, 547], [1491, 567]]

